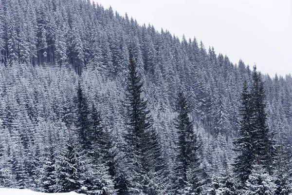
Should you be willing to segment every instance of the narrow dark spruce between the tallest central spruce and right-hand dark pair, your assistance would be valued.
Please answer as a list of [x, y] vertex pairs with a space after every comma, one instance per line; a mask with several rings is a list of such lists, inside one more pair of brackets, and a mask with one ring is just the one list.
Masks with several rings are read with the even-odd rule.
[[197, 135], [194, 133], [193, 124], [189, 119], [189, 107], [182, 91], [179, 92], [178, 96], [177, 112], [175, 127], [178, 131], [178, 155], [176, 157], [174, 192], [186, 195], [200, 194], [203, 185], [198, 156], [200, 145]]

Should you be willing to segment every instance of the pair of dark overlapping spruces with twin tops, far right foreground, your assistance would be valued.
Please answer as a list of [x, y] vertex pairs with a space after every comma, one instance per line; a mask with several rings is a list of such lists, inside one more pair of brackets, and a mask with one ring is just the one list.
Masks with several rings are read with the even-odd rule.
[[254, 166], [262, 166], [271, 175], [275, 159], [273, 133], [267, 126], [265, 111], [265, 93], [263, 82], [254, 66], [253, 84], [251, 92], [244, 83], [240, 108], [242, 120], [239, 137], [236, 139], [238, 156], [234, 163], [234, 171], [243, 187], [252, 173]]

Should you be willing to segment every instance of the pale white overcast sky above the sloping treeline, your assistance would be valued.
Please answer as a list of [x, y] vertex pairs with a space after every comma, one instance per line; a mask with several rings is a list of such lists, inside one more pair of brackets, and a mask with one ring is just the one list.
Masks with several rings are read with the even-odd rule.
[[233, 63], [292, 74], [292, 0], [96, 0], [140, 25], [153, 24], [180, 39], [196, 37]]

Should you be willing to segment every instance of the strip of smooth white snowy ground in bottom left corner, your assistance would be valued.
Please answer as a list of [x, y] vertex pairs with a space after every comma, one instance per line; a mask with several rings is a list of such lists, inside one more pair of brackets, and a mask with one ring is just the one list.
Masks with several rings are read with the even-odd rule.
[[34, 192], [27, 189], [0, 188], [0, 195], [80, 195], [80, 194], [77, 194], [75, 192], [47, 194], [41, 192]]

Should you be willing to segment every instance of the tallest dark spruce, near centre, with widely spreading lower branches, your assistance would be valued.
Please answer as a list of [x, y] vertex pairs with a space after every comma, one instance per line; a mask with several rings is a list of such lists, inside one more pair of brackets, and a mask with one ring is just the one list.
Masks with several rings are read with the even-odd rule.
[[129, 60], [124, 137], [127, 175], [130, 181], [128, 190], [132, 195], [163, 195], [166, 194], [167, 181], [159, 137], [152, 127], [150, 111], [142, 97], [143, 83], [131, 53]]

